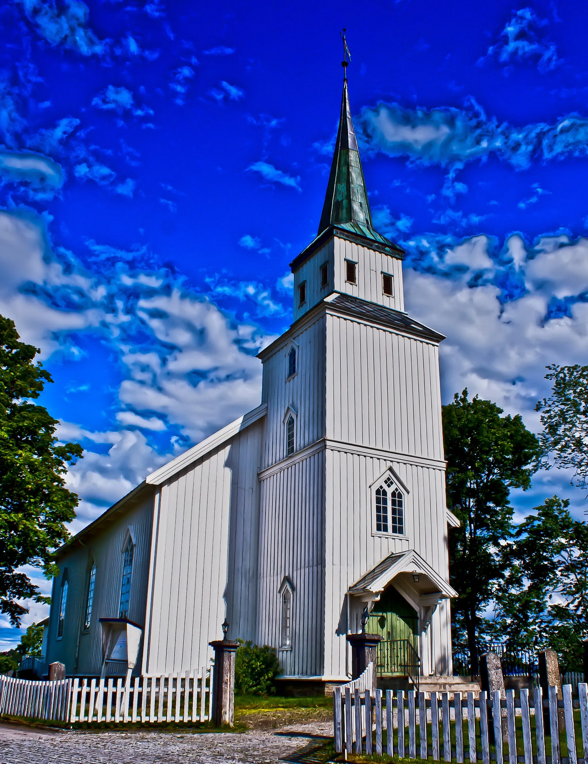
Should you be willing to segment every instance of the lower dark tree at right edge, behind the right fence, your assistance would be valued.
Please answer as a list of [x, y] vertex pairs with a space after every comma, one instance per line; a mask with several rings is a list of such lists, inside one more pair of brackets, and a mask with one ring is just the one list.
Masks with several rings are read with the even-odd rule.
[[588, 525], [573, 519], [569, 503], [546, 499], [505, 546], [494, 629], [514, 646], [551, 647], [564, 670], [579, 670], [588, 638]]

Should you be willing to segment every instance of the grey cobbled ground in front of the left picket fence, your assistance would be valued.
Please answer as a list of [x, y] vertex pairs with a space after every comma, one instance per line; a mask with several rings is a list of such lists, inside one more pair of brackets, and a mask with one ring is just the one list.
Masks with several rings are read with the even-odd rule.
[[[283, 730], [328, 734], [327, 727], [296, 724]], [[247, 733], [89, 732], [0, 724], [0, 764], [273, 764], [308, 742], [304, 737], [260, 730]]]

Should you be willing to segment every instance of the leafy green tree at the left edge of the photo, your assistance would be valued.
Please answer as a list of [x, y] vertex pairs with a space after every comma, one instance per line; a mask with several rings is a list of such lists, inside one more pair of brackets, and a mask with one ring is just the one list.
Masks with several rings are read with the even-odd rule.
[[21, 568], [55, 574], [50, 555], [69, 537], [65, 523], [78, 504], [65, 487], [67, 464], [82, 457], [80, 445], [57, 441], [57, 420], [31, 402], [53, 380], [33, 362], [39, 350], [19, 340], [15, 323], [0, 316], [0, 612], [15, 626], [27, 613], [18, 600], [48, 601]]

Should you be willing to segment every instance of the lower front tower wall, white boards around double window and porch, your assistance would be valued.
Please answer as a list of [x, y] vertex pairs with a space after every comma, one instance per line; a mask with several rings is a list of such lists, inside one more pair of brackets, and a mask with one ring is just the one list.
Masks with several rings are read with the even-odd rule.
[[[444, 519], [443, 471], [327, 448], [325, 499], [325, 675], [344, 677], [347, 660], [346, 593], [362, 575], [392, 552], [415, 549], [447, 578], [447, 523]], [[405, 539], [373, 536], [370, 485], [392, 465], [409, 488], [405, 497]], [[350, 533], [350, 529], [352, 532]], [[405, 581], [402, 585], [410, 590]], [[409, 591], [410, 594], [410, 591]], [[418, 600], [418, 594], [413, 593]], [[447, 615], [441, 615], [447, 610]], [[357, 623], [348, 624], [356, 631]], [[433, 617], [435, 673], [447, 673], [448, 608]], [[428, 645], [428, 643], [427, 643]], [[330, 654], [332, 649], [332, 655]]]

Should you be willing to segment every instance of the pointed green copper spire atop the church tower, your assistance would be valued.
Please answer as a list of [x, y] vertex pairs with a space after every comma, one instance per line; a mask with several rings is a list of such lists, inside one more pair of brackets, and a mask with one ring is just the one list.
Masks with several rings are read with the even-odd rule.
[[373, 230], [366, 181], [361, 169], [354, 123], [351, 121], [347, 79], [344, 79], [343, 83], [339, 130], [318, 234], [330, 225], [347, 228], [348, 231], [354, 231], [374, 241], [389, 244], [388, 239]]

